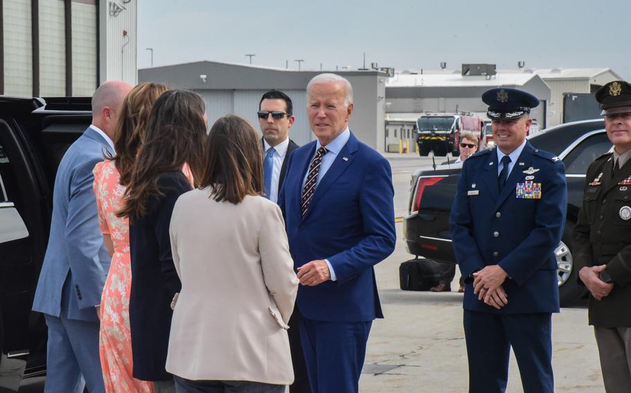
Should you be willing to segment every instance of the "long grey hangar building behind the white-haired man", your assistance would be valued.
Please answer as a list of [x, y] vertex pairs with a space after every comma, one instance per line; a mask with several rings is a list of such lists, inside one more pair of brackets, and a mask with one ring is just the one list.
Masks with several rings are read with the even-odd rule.
[[[271, 89], [281, 90], [291, 98], [296, 118], [289, 137], [298, 145], [304, 145], [314, 139], [306, 116], [306, 84], [322, 72], [327, 71], [202, 61], [140, 69], [138, 79], [196, 91], [206, 102], [209, 125], [221, 116], [234, 113], [250, 120], [257, 129], [261, 96]], [[328, 72], [342, 75], [353, 86], [354, 111], [349, 128], [363, 143], [383, 152], [386, 74], [374, 70]]]

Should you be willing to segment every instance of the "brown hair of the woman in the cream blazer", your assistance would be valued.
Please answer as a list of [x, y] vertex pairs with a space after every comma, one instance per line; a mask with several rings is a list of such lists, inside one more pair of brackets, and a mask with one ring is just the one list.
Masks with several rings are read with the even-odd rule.
[[210, 129], [200, 187], [211, 186], [216, 201], [240, 203], [263, 190], [261, 140], [239, 116], [223, 116]]

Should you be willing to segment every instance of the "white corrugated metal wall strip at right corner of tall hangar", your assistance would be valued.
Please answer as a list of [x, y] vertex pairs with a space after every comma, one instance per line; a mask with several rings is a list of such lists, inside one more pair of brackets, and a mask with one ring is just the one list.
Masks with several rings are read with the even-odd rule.
[[137, 0], [124, 4], [119, 1], [100, 3], [101, 83], [124, 80], [136, 84]]

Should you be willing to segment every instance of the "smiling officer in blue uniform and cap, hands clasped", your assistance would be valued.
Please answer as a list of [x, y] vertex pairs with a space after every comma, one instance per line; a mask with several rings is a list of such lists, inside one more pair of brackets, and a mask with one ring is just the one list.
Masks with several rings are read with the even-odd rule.
[[469, 392], [505, 391], [511, 347], [524, 392], [553, 392], [551, 313], [559, 311], [553, 251], [565, 223], [564, 165], [526, 140], [537, 98], [491, 89], [482, 100], [496, 149], [465, 161], [449, 219], [467, 277]]

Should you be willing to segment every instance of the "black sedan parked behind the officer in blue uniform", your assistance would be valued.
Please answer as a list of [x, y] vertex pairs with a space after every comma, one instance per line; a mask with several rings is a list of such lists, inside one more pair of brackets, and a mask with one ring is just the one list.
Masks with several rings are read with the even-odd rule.
[[[582, 206], [585, 172], [598, 156], [612, 147], [602, 119], [567, 123], [528, 136], [530, 143], [559, 156], [565, 164], [568, 190], [567, 219], [562, 241], [555, 249], [562, 306], [582, 298], [587, 289], [577, 282], [573, 268], [571, 234]], [[412, 175], [408, 215], [404, 217], [406, 249], [412, 255], [456, 263], [451, 247], [449, 213], [462, 165], [420, 168]]]

